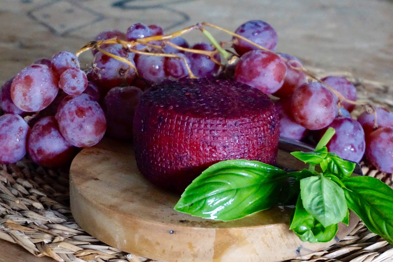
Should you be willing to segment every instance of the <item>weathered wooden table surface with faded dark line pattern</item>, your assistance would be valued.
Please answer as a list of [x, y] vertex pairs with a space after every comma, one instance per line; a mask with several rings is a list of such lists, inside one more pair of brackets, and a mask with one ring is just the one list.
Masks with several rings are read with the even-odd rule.
[[[384, 99], [392, 100], [391, 0], [2, 0], [0, 84], [37, 58], [77, 51], [103, 30], [125, 31], [141, 22], [170, 32], [201, 21], [234, 30], [250, 19], [276, 29], [277, 51], [297, 56], [309, 68], [385, 83]], [[205, 41], [198, 32], [187, 39]], [[88, 63], [91, 56], [81, 59]], [[0, 262], [51, 260], [1, 244]]]

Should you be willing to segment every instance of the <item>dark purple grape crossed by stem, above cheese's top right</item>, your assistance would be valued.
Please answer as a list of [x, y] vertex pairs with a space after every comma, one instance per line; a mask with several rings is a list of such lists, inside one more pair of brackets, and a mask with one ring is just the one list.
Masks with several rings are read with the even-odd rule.
[[[208, 43], [205, 42], [195, 43], [195, 45], [193, 45], [191, 48], [204, 51], [215, 50], [213, 47], [211, 47]], [[192, 73], [198, 78], [211, 77], [216, 74], [220, 69], [220, 65], [213, 62], [207, 55], [187, 52], [186, 56], [190, 60]], [[221, 61], [221, 57], [219, 54], [215, 54], [213, 57], [218, 62]]]

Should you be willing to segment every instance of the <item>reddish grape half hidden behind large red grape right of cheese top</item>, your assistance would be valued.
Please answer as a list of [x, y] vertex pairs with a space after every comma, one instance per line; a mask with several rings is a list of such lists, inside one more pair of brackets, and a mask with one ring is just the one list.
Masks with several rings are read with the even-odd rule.
[[277, 54], [279, 54], [280, 57], [288, 60], [285, 62], [285, 64], [287, 65], [287, 74], [281, 88], [273, 95], [276, 97], [286, 97], [292, 95], [295, 88], [305, 83], [307, 76], [304, 72], [291, 68], [291, 66], [295, 68], [301, 68], [302, 63], [299, 59], [289, 54]]

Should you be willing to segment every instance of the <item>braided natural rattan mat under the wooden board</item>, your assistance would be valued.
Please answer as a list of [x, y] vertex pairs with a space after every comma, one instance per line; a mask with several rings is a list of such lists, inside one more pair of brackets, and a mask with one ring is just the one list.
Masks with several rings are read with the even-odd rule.
[[[355, 79], [342, 72], [315, 72], [319, 76], [346, 76], [357, 86], [359, 99], [393, 109], [393, 100], [386, 95], [391, 86]], [[363, 173], [393, 187], [390, 174], [364, 163]], [[153, 262], [107, 246], [83, 231], [70, 212], [68, 171], [45, 169], [29, 160], [0, 165], [0, 238], [33, 255], [50, 256], [57, 261]], [[387, 262], [393, 261], [393, 246], [359, 223], [350, 235], [330, 248], [289, 261]]]

